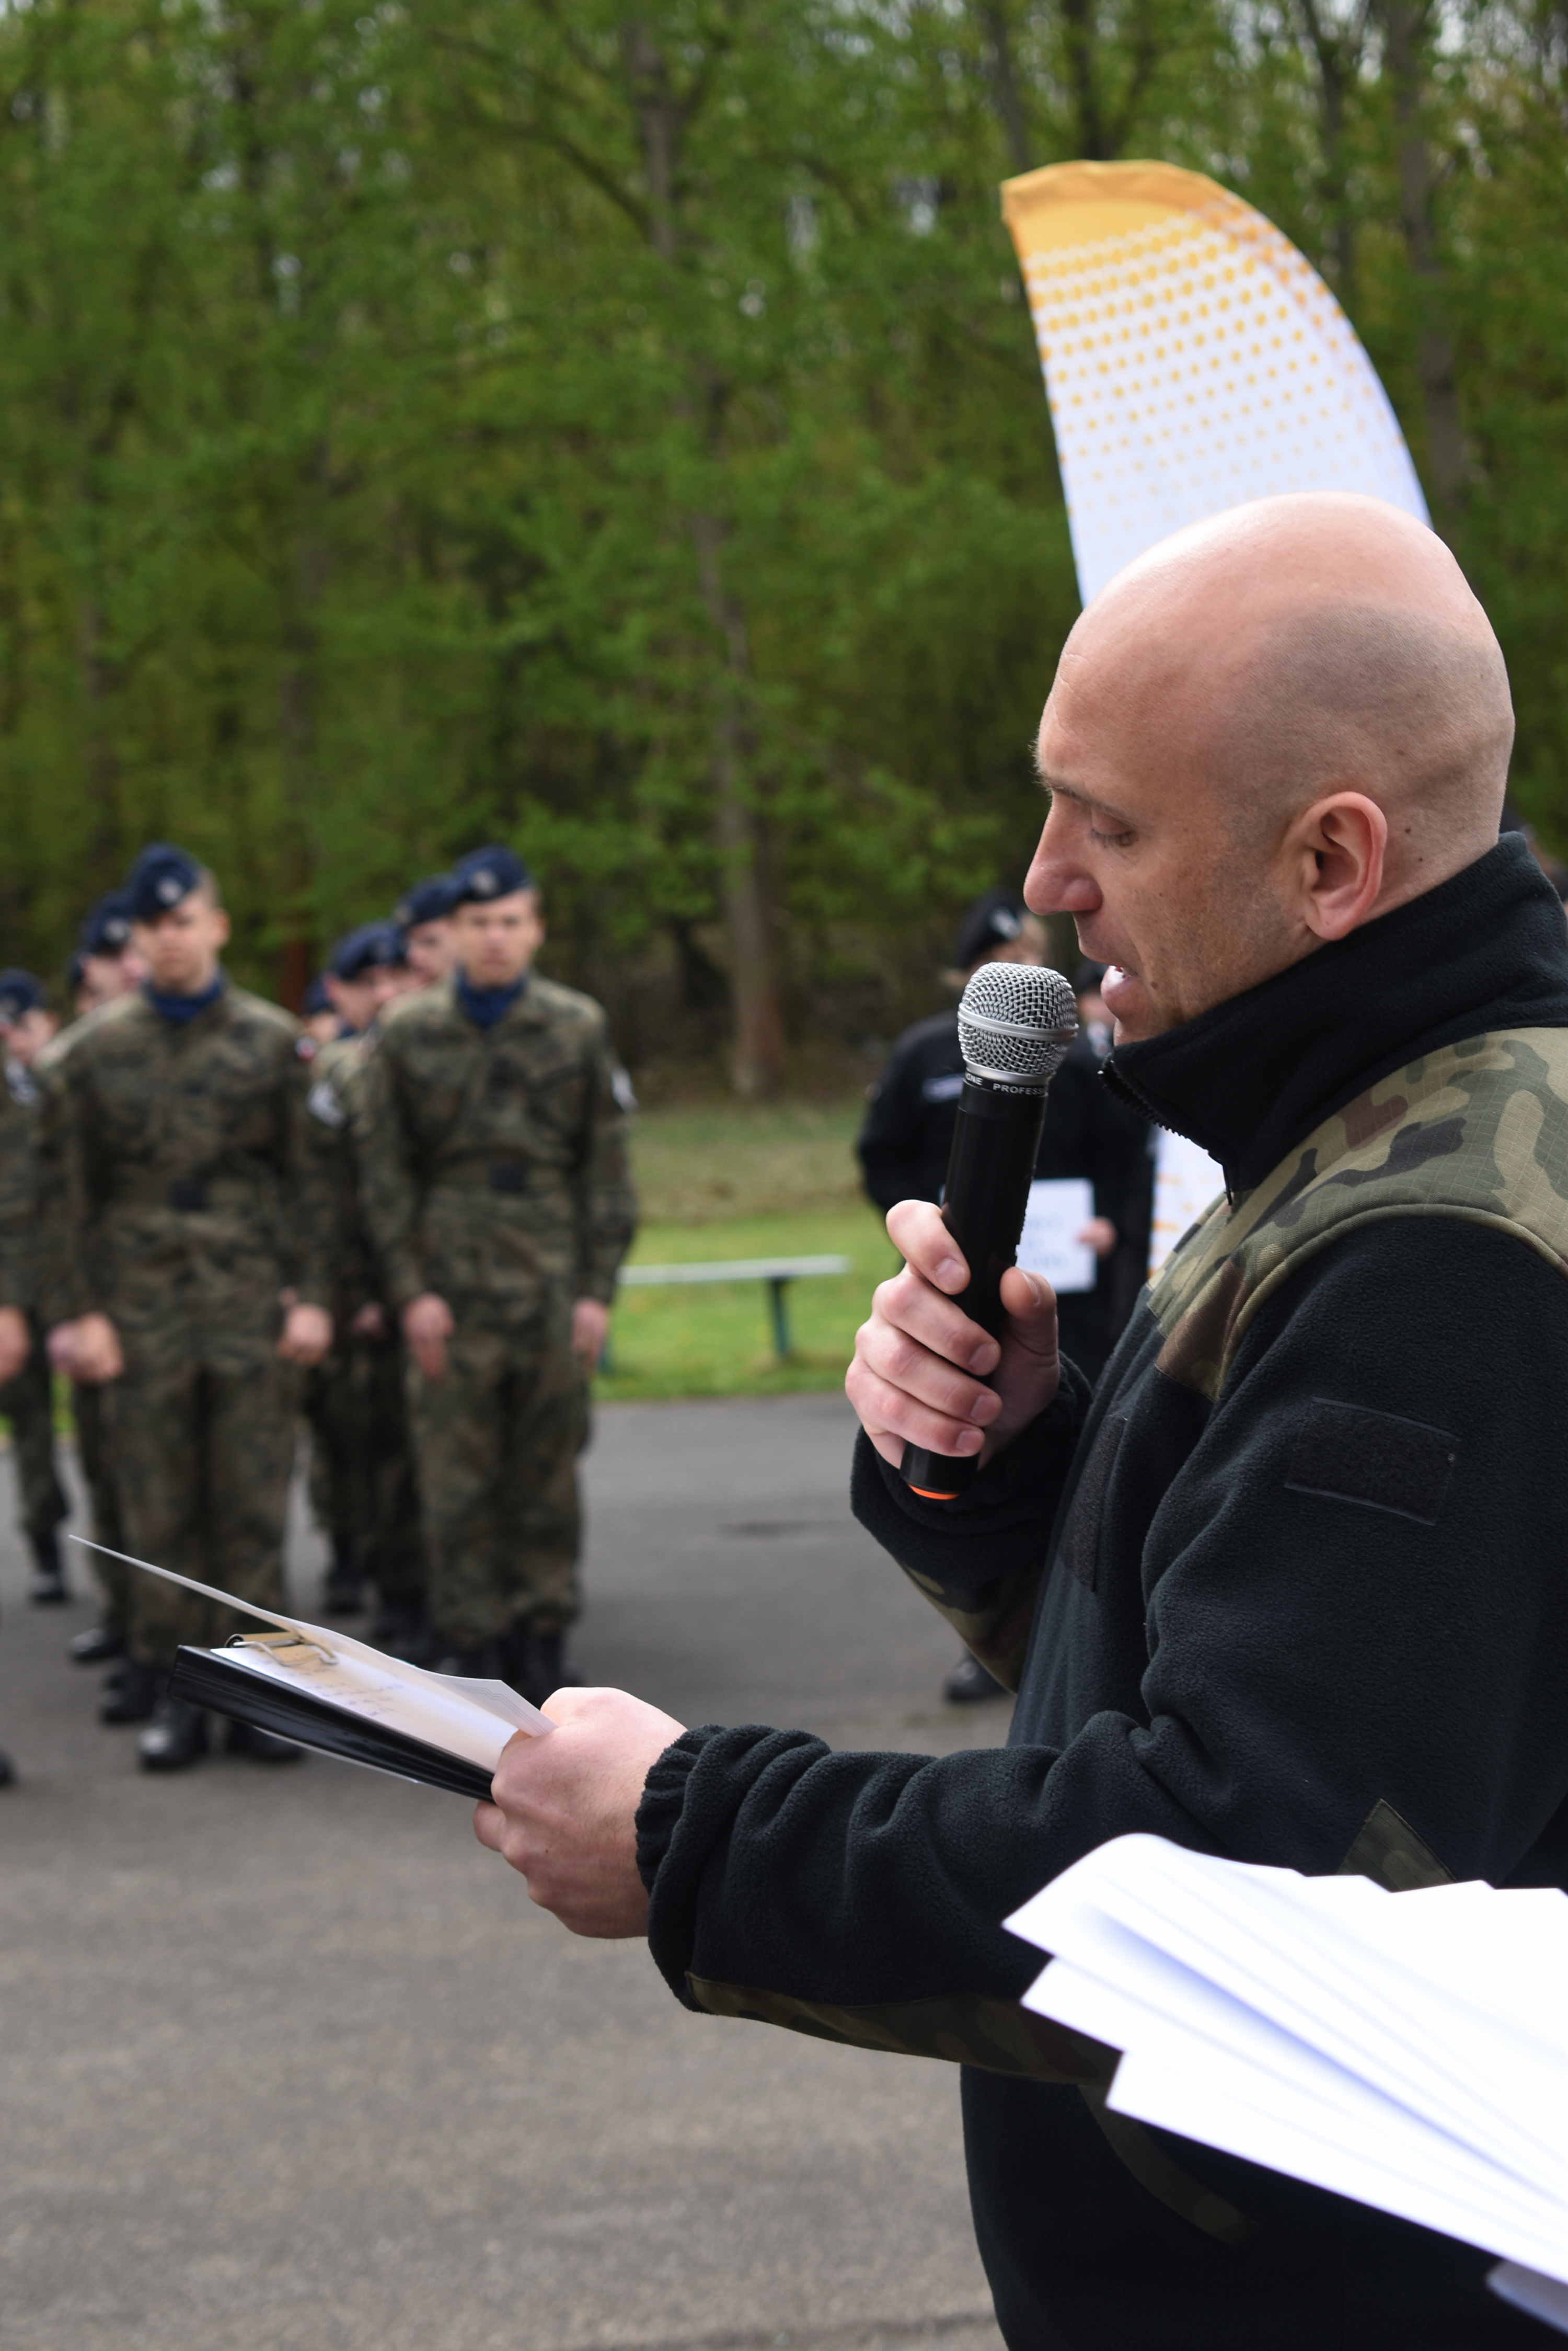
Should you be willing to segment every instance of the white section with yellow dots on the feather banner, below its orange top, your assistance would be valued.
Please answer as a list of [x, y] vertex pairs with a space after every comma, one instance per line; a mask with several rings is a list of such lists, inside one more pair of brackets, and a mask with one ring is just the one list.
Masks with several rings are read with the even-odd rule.
[[[1105, 207], [1084, 209], [1105, 223]], [[1246, 498], [1356, 489], [1427, 520], [1349, 320], [1262, 214], [1225, 195], [1063, 245], [1072, 207], [1048, 212], [1046, 249], [1032, 223], [1016, 233], [1084, 602]]]

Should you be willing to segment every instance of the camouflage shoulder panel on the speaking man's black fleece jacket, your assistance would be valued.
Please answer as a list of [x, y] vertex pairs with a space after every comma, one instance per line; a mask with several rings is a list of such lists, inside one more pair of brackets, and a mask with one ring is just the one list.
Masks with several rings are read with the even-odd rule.
[[1260, 1305], [1319, 1248], [1394, 1215], [1490, 1225], [1568, 1274], [1568, 1030], [1441, 1046], [1215, 1201], [1150, 1286], [1159, 1368], [1215, 1399]]

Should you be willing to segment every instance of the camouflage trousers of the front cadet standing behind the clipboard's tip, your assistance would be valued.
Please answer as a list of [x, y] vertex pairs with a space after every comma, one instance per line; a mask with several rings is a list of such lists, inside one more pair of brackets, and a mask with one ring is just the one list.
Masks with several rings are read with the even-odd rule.
[[[127, 1549], [179, 1575], [282, 1608], [296, 1375], [270, 1345], [139, 1359], [103, 1389]], [[216, 1646], [252, 1617], [129, 1570], [132, 1657], [167, 1669], [181, 1641]]]

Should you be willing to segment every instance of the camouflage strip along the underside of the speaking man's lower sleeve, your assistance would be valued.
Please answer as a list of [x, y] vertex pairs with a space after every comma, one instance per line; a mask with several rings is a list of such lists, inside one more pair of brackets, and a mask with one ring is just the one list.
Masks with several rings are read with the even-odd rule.
[[686, 1982], [691, 1998], [710, 2017], [783, 2024], [792, 2034], [858, 2050], [886, 2050], [891, 2057], [940, 2057], [945, 2064], [973, 2064], [985, 2074], [1023, 2074], [1030, 2081], [1074, 2085], [1110, 2083], [1119, 2062], [1119, 2052], [1103, 2041], [1074, 2034], [1051, 2017], [1037, 2017], [1020, 2001], [985, 1994], [835, 2008], [830, 2001], [797, 2001], [790, 1991], [759, 1991], [752, 1984], [712, 1984], [696, 1975]]

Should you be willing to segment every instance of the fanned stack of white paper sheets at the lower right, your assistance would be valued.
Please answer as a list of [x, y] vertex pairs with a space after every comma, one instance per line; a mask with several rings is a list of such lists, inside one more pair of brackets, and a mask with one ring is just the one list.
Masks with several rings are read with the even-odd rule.
[[[1568, 2332], [1568, 1897], [1302, 1878], [1121, 1836], [1025, 1902], [1025, 2005], [1110, 2104], [1505, 2255]], [[1535, 2273], [1535, 2276], [1533, 2276]]]

